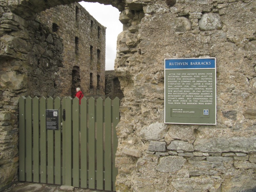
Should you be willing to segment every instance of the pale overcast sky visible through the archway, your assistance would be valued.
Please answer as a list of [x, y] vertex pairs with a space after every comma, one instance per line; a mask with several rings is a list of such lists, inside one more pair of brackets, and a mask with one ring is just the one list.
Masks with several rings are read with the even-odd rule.
[[101, 25], [106, 29], [106, 70], [114, 70], [116, 59], [116, 40], [119, 33], [123, 31], [123, 24], [119, 21], [117, 8], [112, 5], [99, 3], [80, 2]]

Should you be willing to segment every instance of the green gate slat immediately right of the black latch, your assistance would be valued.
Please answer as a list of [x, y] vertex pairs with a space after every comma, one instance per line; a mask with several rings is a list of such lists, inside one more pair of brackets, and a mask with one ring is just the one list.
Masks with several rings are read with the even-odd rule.
[[72, 98], [66, 98], [65, 185], [72, 186]]

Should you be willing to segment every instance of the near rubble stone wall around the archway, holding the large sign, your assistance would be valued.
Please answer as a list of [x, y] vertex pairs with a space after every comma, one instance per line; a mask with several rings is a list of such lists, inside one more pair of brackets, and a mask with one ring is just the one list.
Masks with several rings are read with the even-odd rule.
[[[15, 132], [17, 125], [10, 116], [15, 114], [17, 100], [11, 98], [27, 92], [23, 79], [28, 78], [28, 73], [22, 68], [28, 62], [20, 58], [25, 58], [29, 49], [27, 44], [18, 46], [25, 39], [20, 38], [24, 35], [20, 29], [26, 28], [22, 18], [75, 0], [40, 2], [44, 3], [36, 6], [33, 1], [8, 1], [7, 6], [0, 1], [1, 38], [5, 13], [10, 12], [8, 9], [15, 13], [10, 13], [9, 31], [4, 31], [13, 35], [8, 36], [10, 41], [2, 43], [1, 39], [0, 56], [6, 65], [16, 69], [13, 76], [20, 78], [22, 84], [22, 89], [9, 91], [8, 86], [13, 84], [8, 83], [8, 92], [2, 91], [2, 95], [12, 97], [9, 101], [2, 96], [10, 104], [2, 105], [6, 112], [1, 112], [5, 116], [0, 122], [1, 130], [12, 125]], [[114, 6], [122, 11], [119, 19], [124, 24], [117, 39], [115, 63], [124, 93], [117, 126], [117, 191], [255, 191], [256, 2], [126, 0], [125, 4], [118, 1]], [[31, 15], [29, 9], [33, 10]], [[217, 124], [164, 124], [164, 59], [200, 57], [216, 58]], [[2, 68], [1, 73], [8, 70]], [[15, 134], [1, 135], [8, 135], [10, 141], [3, 136], [5, 143], [16, 147]], [[10, 162], [17, 166], [17, 158]]]

